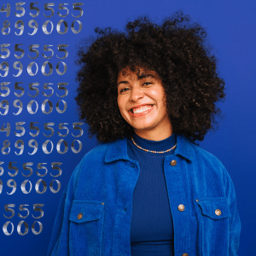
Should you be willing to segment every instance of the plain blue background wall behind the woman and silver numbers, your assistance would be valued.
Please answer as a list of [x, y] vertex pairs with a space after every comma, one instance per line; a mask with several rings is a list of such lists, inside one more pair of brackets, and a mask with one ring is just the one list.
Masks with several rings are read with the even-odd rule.
[[[73, 97], [75, 96], [76, 82], [75, 71], [77, 67], [73, 65], [73, 60], [75, 56], [74, 47], [75, 44], [79, 43], [79, 39], [84, 36], [94, 34], [94, 29], [97, 26], [106, 27], [112, 26], [122, 30], [124, 28], [125, 22], [127, 20], [133, 20], [137, 15], [149, 15], [156, 22], [161, 22], [161, 20], [166, 15], [171, 15], [177, 9], [183, 9], [185, 14], [192, 16], [195, 21], [201, 23], [202, 26], [206, 27], [208, 32], [208, 38], [214, 47], [214, 53], [219, 59], [218, 71], [220, 76], [224, 78], [226, 82], [226, 101], [224, 103], [219, 103], [219, 107], [224, 113], [224, 120], [220, 121], [219, 129], [215, 133], [209, 133], [205, 138], [205, 141], [200, 144], [201, 148], [205, 148], [207, 151], [215, 154], [219, 160], [224, 163], [224, 166], [230, 172], [230, 176], [235, 184], [236, 195], [237, 195], [237, 207], [241, 216], [241, 245], [238, 251], [238, 255], [253, 255], [254, 242], [256, 241], [256, 192], [254, 185], [256, 183], [256, 167], [254, 164], [255, 158], [255, 128], [256, 128], [256, 103], [255, 103], [255, 67], [256, 67], [256, 29], [254, 15], [256, 11], [256, 3], [252, 0], [244, 1], [189, 1], [189, 0], [143, 0], [143, 1], [81, 1], [84, 5], [81, 7], [84, 14], [79, 17], [73, 17], [73, 15], [79, 15], [79, 10], [73, 9], [73, 3], [71, 1], [66, 1], [67, 7], [69, 9], [69, 14], [66, 17], [60, 17], [57, 12], [59, 11], [61, 15], [67, 14], [65, 9], [58, 9], [59, 4], [62, 1], [55, 1], [55, 6], [51, 7], [55, 10], [52, 17], [45, 17], [44, 15], [50, 15], [51, 12], [44, 9], [44, 3], [37, 3], [34, 6], [39, 8], [39, 15], [33, 18], [29, 13], [36, 14], [36, 10], [30, 10], [30, 3], [26, 2], [22, 5], [25, 8], [25, 15], [18, 17], [15, 15], [21, 14], [21, 10], [16, 10], [15, 1], [1, 2], [0, 8], [4, 5], [6, 8], [6, 3], [10, 4], [10, 15], [6, 16], [6, 13], [0, 13], [0, 24], [1, 29], [3, 28], [3, 21], [9, 20], [10, 22], [10, 32], [8, 35], [3, 35], [3, 32], [8, 32], [8, 28], [0, 32], [0, 44], [10, 44], [8, 49], [10, 55], [8, 58], [1, 58], [0, 64], [3, 61], [8, 61], [9, 63], [9, 73], [7, 76], [3, 77], [4, 71], [0, 70], [1, 77], [0, 83], [9, 82], [7, 85], [9, 87], [9, 95], [3, 96], [8, 90], [1, 90], [2, 96], [0, 96], [0, 102], [7, 100], [9, 102], [9, 111], [3, 114], [5, 110], [0, 108], [0, 129], [1, 127], [6, 128], [7, 123], [10, 126], [9, 136], [7, 131], [0, 132], [1, 144], [0, 144], [0, 179], [3, 182], [3, 191], [0, 195], [0, 227], [3, 227], [7, 222], [11, 222], [14, 225], [14, 230], [12, 232], [12, 224], [7, 227], [5, 235], [4, 232], [0, 231], [1, 239], [1, 255], [46, 255], [49, 239], [52, 232], [52, 227], [55, 220], [55, 213], [58, 207], [58, 203], [61, 198], [61, 192], [67, 186], [69, 177], [71, 176], [75, 166], [79, 164], [79, 161], [85, 153], [87, 153], [91, 148], [94, 148], [97, 143], [96, 139], [90, 140], [87, 134], [87, 126], [80, 125], [84, 133], [80, 137], [74, 137], [79, 135], [79, 131], [73, 129], [73, 123], [79, 122], [78, 116], [75, 112], [75, 102]], [[72, 15], [73, 14], [73, 15]], [[59, 34], [56, 31], [56, 26], [59, 20], [66, 20], [68, 30], [65, 34]], [[15, 28], [15, 22], [17, 20], [24, 21], [24, 32], [22, 35], [17, 36], [20, 30]], [[28, 26], [29, 20], [36, 20], [38, 22], [38, 32], [34, 35], [29, 35], [32, 33], [33, 29]], [[42, 26], [46, 20], [50, 20], [53, 23], [54, 30], [49, 35], [43, 32]], [[71, 24], [73, 20], [80, 20], [82, 22], [82, 31], [75, 34], [71, 30]], [[20, 26], [20, 25], [19, 25]], [[50, 31], [50, 24], [47, 26], [48, 31]], [[77, 21], [75, 22], [74, 28], [79, 30], [79, 25]], [[61, 32], [64, 31], [64, 25], [61, 25]], [[20, 55], [20, 52], [15, 52], [15, 44], [20, 45], [20, 48], [24, 49], [25, 55], [21, 59], [17, 59], [16, 55]], [[36, 59], [29, 58], [36, 56], [36, 53], [29, 51], [29, 45], [39, 44], [38, 51], [39, 55]], [[44, 45], [50, 44], [49, 48], [54, 50], [54, 55], [50, 59], [45, 59], [44, 55], [49, 56], [51, 53], [44, 51]], [[58, 44], [68, 44], [67, 46], [67, 58], [59, 59], [59, 57], [64, 56], [64, 52], [58, 51]], [[7, 53], [1, 51], [0, 54], [6, 55]], [[23, 65], [23, 71], [20, 76], [17, 75], [18, 70], [13, 67], [15, 61], [20, 61]], [[27, 67], [29, 63], [35, 61], [38, 64], [38, 73], [31, 76], [27, 73]], [[49, 61], [53, 66], [53, 73], [49, 76], [45, 76], [41, 67], [44, 61]], [[59, 61], [63, 61], [67, 64], [67, 72], [63, 75], [56, 73], [55, 67]], [[18, 65], [19, 66], [19, 65]], [[5, 67], [5, 66], [3, 66]], [[60, 64], [60, 71], [63, 73], [64, 68]], [[49, 73], [49, 67], [45, 69], [46, 73]], [[32, 73], [36, 73], [35, 64], [32, 67]], [[23, 84], [18, 84], [24, 88], [23, 96], [16, 96], [16, 94], [21, 94], [22, 90], [15, 90], [15, 82], [21, 82]], [[29, 90], [29, 84], [39, 83], [38, 86], [38, 96], [35, 90]], [[45, 83], [49, 84], [54, 90], [52, 96], [50, 95], [51, 90], [44, 89]], [[68, 83], [67, 96], [60, 97], [64, 95], [64, 90], [59, 90], [57, 83]], [[43, 94], [44, 92], [44, 94]], [[28, 94], [32, 95], [29, 96]], [[59, 96], [57, 96], [57, 94]], [[43, 113], [41, 106], [42, 103], [48, 99], [52, 102], [53, 109], [51, 113]], [[15, 108], [13, 103], [15, 100], [20, 100], [23, 104], [22, 111], [18, 112], [19, 108]], [[27, 105], [32, 100], [38, 102], [37, 113], [31, 114], [27, 110]], [[67, 110], [64, 113], [58, 113], [56, 111], [56, 103], [59, 100], [67, 102]], [[19, 105], [19, 103], [17, 103]], [[5, 103], [3, 103], [3, 107]], [[60, 109], [63, 110], [63, 102], [60, 103]], [[36, 110], [36, 103], [33, 102], [32, 111]], [[46, 104], [46, 112], [49, 111], [49, 103]], [[18, 122], [25, 122], [22, 125], [25, 129], [25, 133], [19, 137], [15, 134], [21, 133], [21, 130], [16, 130], [15, 126]], [[37, 126], [39, 128], [39, 134], [37, 137], [32, 137], [31, 133], [36, 133], [35, 130], [30, 129], [31, 122], [38, 122]], [[49, 127], [54, 129], [52, 136], [51, 131], [47, 131], [44, 128], [45, 123], [54, 123]], [[61, 123], [67, 123], [69, 132], [67, 136], [61, 137], [58, 132], [62, 135], [67, 133], [67, 130], [61, 130], [59, 125]], [[4, 130], [4, 129], [2, 129]], [[50, 136], [50, 137], [47, 137]], [[37, 151], [32, 154], [33, 149], [28, 145], [29, 141], [35, 139], [38, 143]], [[67, 152], [64, 154], [58, 153], [56, 148], [57, 143], [64, 139], [67, 142]], [[10, 146], [4, 148], [3, 142], [9, 141]], [[22, 140], [24, 142], [24, 150], [20, 151], [20, 143], [15, 147], [15, 142]], [[50, 154], [45, 154], [42, 146], [45, 141], [50, 140], [53, 143], [53, 149]], [[73, 140], [79, 140], [82, 143], [82, 149], [79, 153], [74, 153], [72, 150]], [[8, 142], [5, 142], [6, 144]], [[34, 144], [34, 142], [32, 143]], [[74, 148], [78, 150], [79, 143], [76, 141], [74, 143]], [[61, 143], [61, 148], [59, 151], [64, 152], [64, 143]], [[47, 146], [47, 150], [50, 151], [50, 143]], [[22, 152], [22, 154], [21, 154]], [[9, 169], [9, 163], [15, 162], [12, 166], [16, 166], [16, 170]], [[22, 164], [32, 162], [32, 175], [30, 177], [25, 177], [30, 172], [24, 170]], [[51, 163], [61, 162], [61, 175], [56, 176], [58, 170], [53, 169]], [[45, 169], [39, 170], [38, 163], [44, 163], [48, 170], [44, 177], [38, 176], [38, 174], [44, 174]], [[38, 172], [38, 174], [37, 174]], [[22, 175], [22, 173], [24, 175]], [[11, 175], [15, 175], [12, 177]], [[9, 180], [15, 180], [16, 189], [12, 195], [9, 195], [13, 191], [12, 186], [14, 182]], [[37, 191], [44, 191], [43, 181], [40, 183], [38, 189], [36, 189], [36, 183], [39, 179], [43, 179], [46, 185], [46, 191], [43, 194], [38, 194]], [[50, 189], [51, 181], [55, 179], [61, 183], [61, 189], [57, 193], [53, 193]], [[21, 183], [25, 180], [29, 180], [32, 184], [32, 189], [28, 194], [24, 194], [20, 188]], [[8, 181], [10, 187], [8, 186]], [[26, 183], [26, 191], [30, 190], [29, 182]], [[1, 184], [1, 183], [0, 183]], [[52, 189], [57, 189], [57, 182], [53, 182]], [[13, 204], [15, 206], [9, 206], [9, 209], [13, 209], [15, 214], [12, 218], [12, 212], [5, 211], [4, 206], [7, 204]], [[39, 211], [33, 209], [35, 204], [44, 204], [41, 209], [44, 211], [40, 215]], [[20, 205], [26, 205], [28, 211], [22, 211], [19, 207]], [[21, 206], [22, 207], [22, 206]], [[37, 208], [35, 208], [37, 209]], [[20, 213], [20, 215], [19, 215]], [[4, 215], [7, 217], [4, 217]], [[27, 217], [26, 217], [27, 215]], [[21, 217], [26, 218], [21, 218]], [[41, 218], [34, 218], [41, 217]], [[18, 234], [17, 226], [20, 221], [25, 221], [28, 227], [27, 234], [22, 236]], [[43, 230], [39, 235], [35, 235], [32, 232], [32, 224], [34, 221], [39, 221], [43, 225]], [[35, 224], [34, 229], [39, 230], [39, 225]], [[22, 234], [26, 233], [25, 224], [23, 223], [20, 228]], [[15, 246], [14, 246], [15, 245]]]

